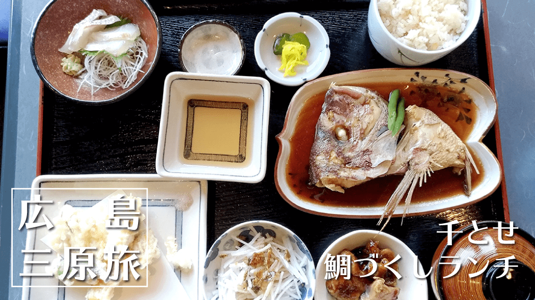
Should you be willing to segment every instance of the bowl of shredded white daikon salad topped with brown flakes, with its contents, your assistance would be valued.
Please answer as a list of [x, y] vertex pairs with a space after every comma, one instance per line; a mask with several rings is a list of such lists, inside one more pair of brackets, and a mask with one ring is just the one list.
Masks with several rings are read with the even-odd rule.
[[308, 299], [316, 274], [309, 250], [288, 228], [265, 220], [228, 229], [204, 263], [205, 300]]

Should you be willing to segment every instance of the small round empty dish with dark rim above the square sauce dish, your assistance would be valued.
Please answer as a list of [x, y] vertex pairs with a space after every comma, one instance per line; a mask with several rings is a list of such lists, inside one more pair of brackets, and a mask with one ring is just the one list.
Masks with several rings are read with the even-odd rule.
[[240, 33], [223, 21], [197, 23], [180, 40], [179, 61], [186, 72], [234, 75], [244, 60], [245, 45]]

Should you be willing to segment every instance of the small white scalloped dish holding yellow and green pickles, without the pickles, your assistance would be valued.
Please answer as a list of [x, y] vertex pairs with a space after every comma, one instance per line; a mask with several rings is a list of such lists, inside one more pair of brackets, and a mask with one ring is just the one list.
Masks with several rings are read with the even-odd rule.
[[[295, 76], [284, 76], [279, 71], [280, 56], [273, 54], [273, 43], [277, 35], [302, 32], [310, 41], [307, 51], [308, 65], [297, 66]], [[295, 12], [276, 15], [265, 22], [255, 40], [255, 58], [258, 66], [274, 82], [282, 85], [297, 86], [313, 80], [323, 72], [331, 57], [329, 37], [325, 28], [314, 18]]]

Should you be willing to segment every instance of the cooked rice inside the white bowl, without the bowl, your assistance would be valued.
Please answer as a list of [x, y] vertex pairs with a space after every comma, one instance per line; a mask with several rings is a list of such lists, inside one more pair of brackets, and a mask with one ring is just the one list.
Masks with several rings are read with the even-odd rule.
[[381, 20], [403, 44], [419, 50], [448, 48], [467, 25], [464, 0], [378, 0]]

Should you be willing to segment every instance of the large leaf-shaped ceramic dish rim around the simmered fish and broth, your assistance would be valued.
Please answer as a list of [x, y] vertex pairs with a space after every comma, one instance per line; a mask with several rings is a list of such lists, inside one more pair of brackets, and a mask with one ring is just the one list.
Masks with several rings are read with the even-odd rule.
[[[456, 207], [467, 206], [492, 194], [501, 182], [501, 168], [494, 154], [483, 144], [482, 139], [491, 129], [496, 119], [498, 104], [494, 93], [488, 85], [477, 77], [453, 70], [442, 69], [411, 69], [411, 68], [393, 68], [393, 69], [370, 69], [354, 72], [335, 74], [318, 78], [303, 86], [294, 94], [286, 113], [284, 128], [277, 135], [279, 142], [279, 154], [275, 166], [275, 183], [277, 190], [293, 207], [310, 212], [311, 214], [343, 217], [343, 218], [377, 218], [383, 214], [384, 204], [371, 204], [369, 206], [327, 206], [320, 201], [310, 201], [307, 195], [297, 192], [287, 180], [289, 156], [292, 152], [299, 152], [300, 155], [309, 156], [310, 148], [292, 148], [290, 140], [292, 139], [296, 128], [303, 130], [302, 125], [297, 124], [299, 115], [306, 101], [318, 94], [325, 93], [329, 85], [335, 82], [338, 85], [366, 85], [373, 83], [399, 83], [400, 87], [408, 83], [422, 83], [433, 85], [450, 84], [455, 89], [464, 88], [463, 93], [468, 94], [472, 99], [473, 105], [477, 107], [476, 117], [472, 124], [470, 135], [465, 140], [468, 148], [472, 151], [482, 164], [483, 178], [480, 183], [472, 186], [472, 193], [466, 196], [464, 193], [444, 196], [433, 196], [428, 201], [413, 201], [407, 211], [407, 215], [423, 215], [433, 212], [440, 212]], [[453, 83], [450, 83], [453, 82]], [[316, 120], [307, 120], [316, 124]], [[311, 135], [315, 134], [312, 129]], [[480, 169], [481, 171], [481, 169]], [[295, 176], [295, 175], [294, 175]], [[431, 178], [428, 179], [432, 180]], [[373, 179], [372, 179], [373, 180]], [[417, 196], [418, 189], [415, 190], [414, 196]], [[337, 193], [338, 200], [343, 201], [344, 197], [351, 195]], [[415, 199], [415, 198], [413, 198]], [[370, 201], [374, 201], [370, 199]], [[377, 201], [375, 201], [377, 203]], [[385, 200], [386, 204], [386, 200]], [[394, 211], [393, 216], [403, 215], [404, 204], [401, 203]]]

